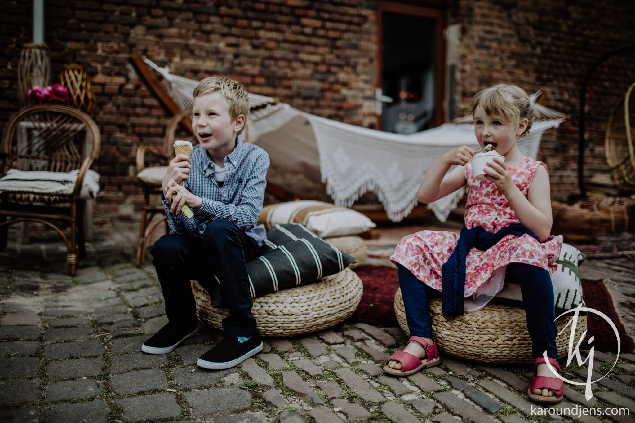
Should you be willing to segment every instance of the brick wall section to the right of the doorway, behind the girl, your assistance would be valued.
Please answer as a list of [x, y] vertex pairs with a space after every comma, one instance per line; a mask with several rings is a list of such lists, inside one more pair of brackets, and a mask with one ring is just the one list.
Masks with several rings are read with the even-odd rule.
[[[504, 82], [533, 93], [546, 91], [545, 106], [565, 113], [557, 130], [545, 133], [540, 157], [549, 168], [552, 198], [578, 194], [578, 115], [582, 79], [601, 55], [635, 45], [635, 3], [604, 1], [456, 0], [449, 23], [460, 25], [460, 109], [480, 89]], [[598, 68], [587, 91], [585, 179], [590, 193], [618, 191], [605, 158], [610, 111], [635, 82], [635, 53]], [[592, 183], [591, 183], [592, 182]]]

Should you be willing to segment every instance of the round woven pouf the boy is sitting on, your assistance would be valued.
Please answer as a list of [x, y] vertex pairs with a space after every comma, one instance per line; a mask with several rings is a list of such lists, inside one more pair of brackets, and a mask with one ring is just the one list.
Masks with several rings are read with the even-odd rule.
[[[261, 336], [292, 336], [330, 328], [349, 318], [357, 308], [363, 285], [350, 269], [320, 282], [272, 292], [253, 299], [251, 313]], [[210, 306], [210, 294], [192, 281], [196, 314], [201, 322], [222, 330], [226, 308]]]

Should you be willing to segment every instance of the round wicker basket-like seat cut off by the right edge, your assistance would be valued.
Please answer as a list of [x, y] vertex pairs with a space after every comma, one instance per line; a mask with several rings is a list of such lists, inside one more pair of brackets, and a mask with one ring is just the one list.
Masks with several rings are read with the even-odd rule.
[[635, 191], [635, 153], [633, 125], [635, 125], [635, 88], [633, 83], [613, 110], [606, 126], [606, 162], [611, 167], [615, 185], [622, 190]]

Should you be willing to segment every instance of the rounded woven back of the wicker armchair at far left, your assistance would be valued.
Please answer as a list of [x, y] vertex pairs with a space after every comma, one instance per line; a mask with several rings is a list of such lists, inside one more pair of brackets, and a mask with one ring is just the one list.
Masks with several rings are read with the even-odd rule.
[[2, 174], [9, 169], [50, 172], [88, 169], [97, 159], [100, 145], [97, 125], [81, 110], [55, 104], [25, 107], [11, 117], [4, 129], [0, 150]]

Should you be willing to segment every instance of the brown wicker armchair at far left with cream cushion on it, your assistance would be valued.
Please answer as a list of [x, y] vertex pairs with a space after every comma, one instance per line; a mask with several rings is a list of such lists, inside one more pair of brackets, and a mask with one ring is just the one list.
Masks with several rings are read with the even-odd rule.
[[[30, 134], [30, 136], [29, 136]], [[97, 125], [81, 110], [65, 105], [34, 105], [22, 108], [4, 129], [0, 163], [2, 176], [10, 169], [70, 172], [79, 170], [70, 195], [37, 192], [0, 194], [0, 250], [6, 248], [8, 225], [22, 221], [43, 223], [56, 230], [67, 248], [67, 267], [75, 275], [77, 247], [86, 256], [84, 203], [80, 198], [84, 176], [99, 155], [101, 138]], [[7, 220], [11, 217], [11, 220]], [[50, 221], [70, 225], [70, 241]]]

